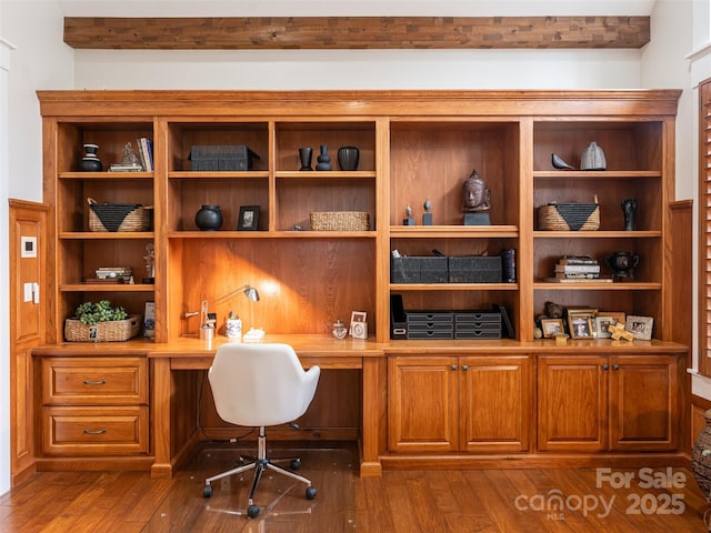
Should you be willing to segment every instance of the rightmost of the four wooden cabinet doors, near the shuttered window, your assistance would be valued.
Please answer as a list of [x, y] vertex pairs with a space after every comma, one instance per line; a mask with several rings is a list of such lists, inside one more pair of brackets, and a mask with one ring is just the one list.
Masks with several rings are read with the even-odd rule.
[[678, 359], [610, 358], [610, 447], [668, 451], [679, 447]]

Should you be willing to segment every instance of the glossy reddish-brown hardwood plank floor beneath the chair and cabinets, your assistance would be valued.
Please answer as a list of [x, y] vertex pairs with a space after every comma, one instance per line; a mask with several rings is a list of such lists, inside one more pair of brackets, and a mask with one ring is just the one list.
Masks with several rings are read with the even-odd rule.
[[34, 474], [0, 496], [0, 532], [708, 531], [709, 505], [683, 469], [387, 471], [361, 480], [353, 451], [337, 447], [299, 450], [314, 500], [301, 483], [268, 472], [256, 499], [261, 512], [248, 519], [251, 473], [217, 482], [212, 497], [202, 497], [204, 477], [237, 456], [219, 446], [202, 450], [172, 480], [144, 472]]

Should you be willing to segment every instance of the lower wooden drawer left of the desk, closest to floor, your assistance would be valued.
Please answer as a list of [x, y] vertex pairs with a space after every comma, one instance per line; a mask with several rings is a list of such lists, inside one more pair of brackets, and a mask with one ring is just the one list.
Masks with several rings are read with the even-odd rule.
[[44, 408], [43, 451], [48, 455], [148, 453], [148, 408]]

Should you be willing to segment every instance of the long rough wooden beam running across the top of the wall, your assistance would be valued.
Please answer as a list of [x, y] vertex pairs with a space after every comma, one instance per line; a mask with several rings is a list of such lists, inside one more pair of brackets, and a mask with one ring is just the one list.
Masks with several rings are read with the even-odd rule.
[[641, 48], [649, 17], [66, 17], [76, 49]]

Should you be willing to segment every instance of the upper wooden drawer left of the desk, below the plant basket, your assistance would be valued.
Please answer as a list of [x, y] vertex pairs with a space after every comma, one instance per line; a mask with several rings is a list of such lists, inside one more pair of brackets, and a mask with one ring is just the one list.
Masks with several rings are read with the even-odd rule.
[[42, 403], [148, 403], [148, 362], [144, 358], [42, 359]]

